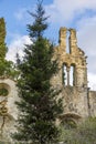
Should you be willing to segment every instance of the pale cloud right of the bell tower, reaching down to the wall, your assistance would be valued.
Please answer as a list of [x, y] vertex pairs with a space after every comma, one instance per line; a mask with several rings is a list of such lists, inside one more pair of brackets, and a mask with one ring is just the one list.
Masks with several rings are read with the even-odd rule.
[[78, 47], [85, 51], [88, 68], [88, 86], [96, 90], [96, 16], [77, 22]]

